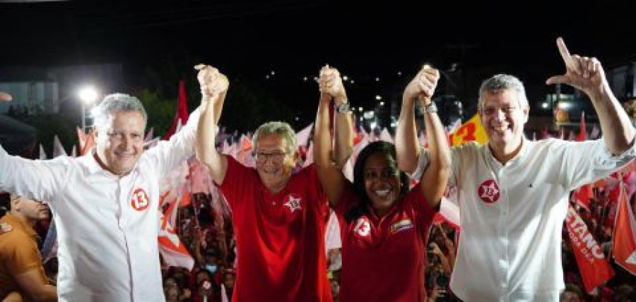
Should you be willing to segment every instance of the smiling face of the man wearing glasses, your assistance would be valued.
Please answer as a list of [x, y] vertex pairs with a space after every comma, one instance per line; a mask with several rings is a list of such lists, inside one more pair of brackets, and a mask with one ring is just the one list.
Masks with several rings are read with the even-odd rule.
[[291, 177], [297, 153], [290, 154], [288, 141], [277, 133], [259, 137], [254, 145], [254, 161], [261, 181], [270, 191], [281, 191]]

